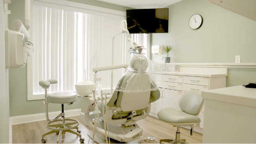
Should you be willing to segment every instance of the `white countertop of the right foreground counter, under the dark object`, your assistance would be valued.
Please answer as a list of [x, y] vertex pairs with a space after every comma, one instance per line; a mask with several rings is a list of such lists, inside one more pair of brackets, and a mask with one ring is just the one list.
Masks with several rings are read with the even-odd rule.
[[233, 86], [202, 91], [202, 97], [215, 101], [256, 107], [256, 88]]

